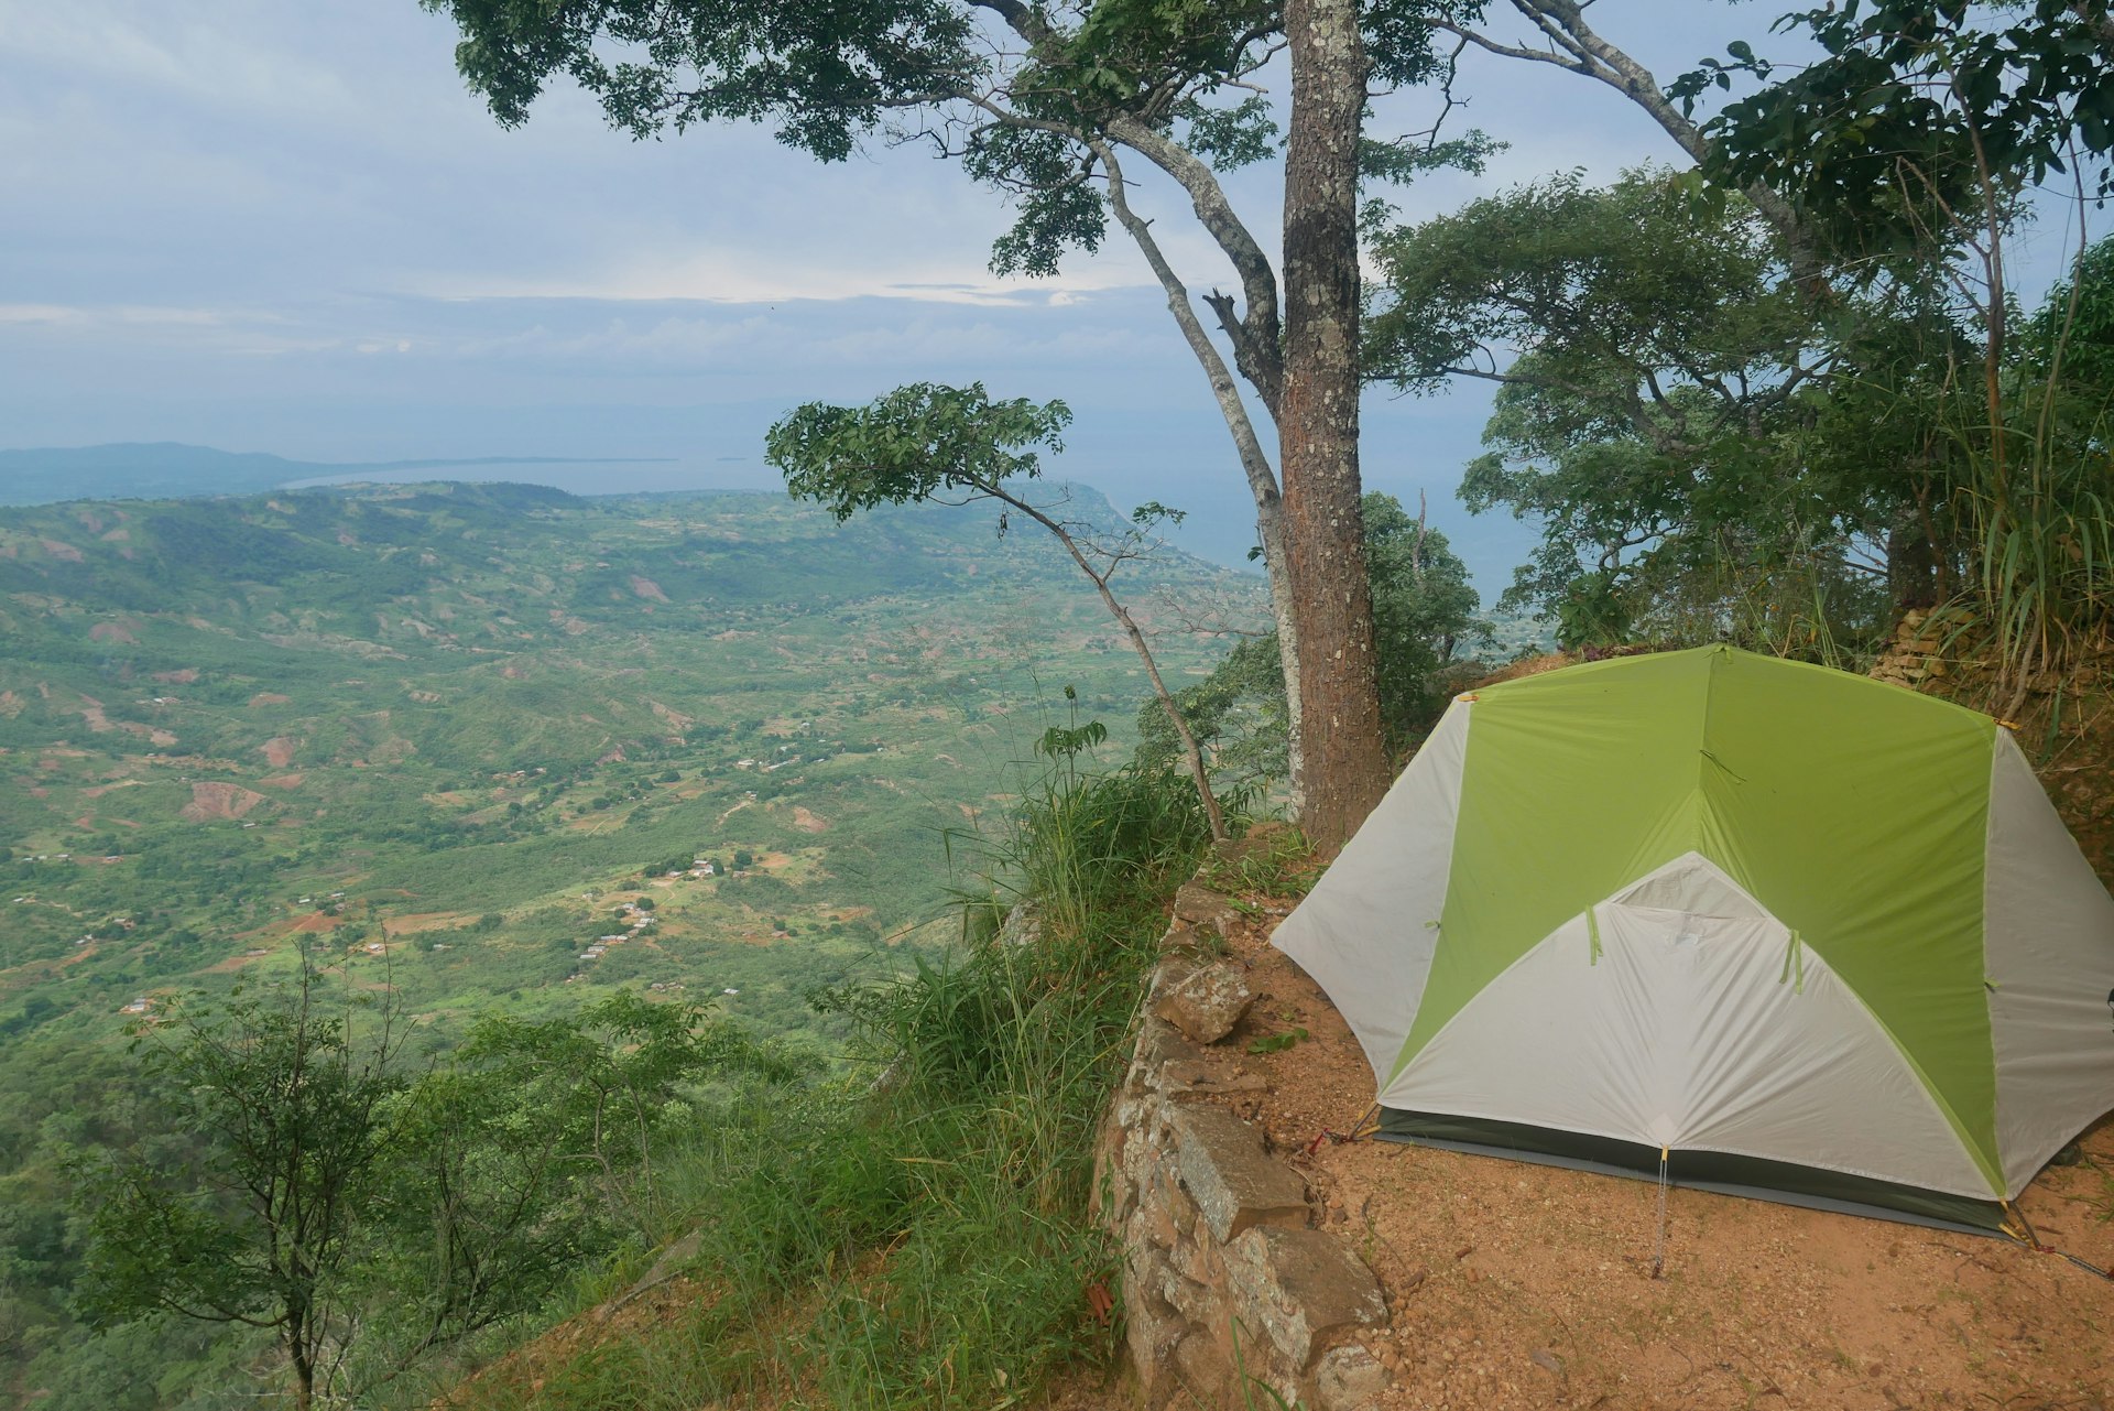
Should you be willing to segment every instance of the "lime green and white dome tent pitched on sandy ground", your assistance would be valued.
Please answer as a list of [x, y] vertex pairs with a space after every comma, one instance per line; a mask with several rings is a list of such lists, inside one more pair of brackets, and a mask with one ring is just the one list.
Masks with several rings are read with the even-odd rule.
[[1277, 946], [1393, 1136], [1994, 1227], [2114, 1108], [2114, 897], [2010, 732], [1731, 647], [1457, 698]]

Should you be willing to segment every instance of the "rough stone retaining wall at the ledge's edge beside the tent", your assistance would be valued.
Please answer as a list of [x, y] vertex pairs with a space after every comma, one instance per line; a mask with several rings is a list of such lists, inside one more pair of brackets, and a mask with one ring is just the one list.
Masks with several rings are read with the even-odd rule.
[[1313, 1229], [1298, 1170], [1213, 1102], [1260, 1085], [1237, 1053], [1211, 1047], [1254, 1003], [1245, 973], [1194, 958], [1199, 939], [1235, 924], [1226, 897], [1182, 888], [1095, 1147], [1095, 1218], [1123, 1244], [1135, 1400], [1161, 1411], [1275, 1394], [1364, 1411], [1389, 1386], [1357, 1341], [1387, 1324], [1380, 1284], [1349, 1240]]

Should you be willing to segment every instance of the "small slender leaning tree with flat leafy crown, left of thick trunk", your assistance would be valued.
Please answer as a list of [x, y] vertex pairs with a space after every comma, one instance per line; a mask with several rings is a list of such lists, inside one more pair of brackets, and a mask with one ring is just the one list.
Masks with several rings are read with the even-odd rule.
[[[1161, 679], [1144, 630], [1108, 586], [1116, 569], [1144, 550], [1144, 531], [1173, 512], [1165, 506], [1144, 506], [1133, 516], [1133, 531], [1108, 544], [1087, 525], [1059, 520], [1049, 506], [1034, 503], [1019, 489], [1021, 482], [1042, 474], [1040, 457], [1025, 446], [1063, 451], [1061, 434], [1070, 421], [1072, 410], [1063, 402], [1040, 406], [1025, 398], [991, 402], [983, 383], [970, 387], [913, 383], [863, 408], [822, 402], [797, 408], [769, 429], [765, 459], [784, 472], [786, 491], [795, 499], [827, 506], [839, 520], [882, 503], [996, 499], [1008, 514], [1019, 512], [1042, 525], [1131, 639], [1137, 660], [1146, 666], [1146, 679], [1152, 681], [1152, 694], [1182, 743], [1197, 798], [1211, 823], [1211, 838], [1224, 840], [1226, 819], [1211, 795], [1203, 751], [1182, 719], [1173, 692]], [[1008, 514], [1000, 514], [1000, 533]]]

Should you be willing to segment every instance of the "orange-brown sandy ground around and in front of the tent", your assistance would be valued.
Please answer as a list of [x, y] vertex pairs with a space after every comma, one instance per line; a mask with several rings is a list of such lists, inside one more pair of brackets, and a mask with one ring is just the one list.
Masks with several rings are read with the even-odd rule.
[[[1249, 897], [1281, 914], [1285, 899]], [[1224, 1049], [1268, 1083], [1239, 1098], [1306, 1176], [1325, 1229], [1359, 1238], [1393, 1326], [1374, 1407], [2063, 1407], [2114, 1403], [2114, 1284], [2002, 1240], [1672, 1189], [1651, 1276], [1645, 1180], [1499, 1157], [1330, 1140], [1374, 1079], [1304, 971], [1235, 924], [1260, 994]], [[1304, 1028], [1281, 1053], [1247, 1043]], [[1311, 1147], [1311, 1153], [1309, 1153]], [[2114, 1123], [2019, 1206], [2042, 1240], [2114, 1267]]]

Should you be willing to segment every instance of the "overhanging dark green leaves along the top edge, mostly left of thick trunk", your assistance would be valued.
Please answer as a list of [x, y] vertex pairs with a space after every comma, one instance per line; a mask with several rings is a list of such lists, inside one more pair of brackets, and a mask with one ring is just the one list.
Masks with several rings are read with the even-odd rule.
[[[1144, 144], [1152, 154], [1186, 144], [1184, 159], [1192, 150], [1237, 167], [1266, 154], [1275, 135], [1266, 102], [1247, 83], [1279, 47], [1283, 13], [1268, 0], [729, 0], [710, 11], [653, 0], [421, 4], [461, 28], [457, 68], [509, 127], [562, 74], [634, 138], [715, 121], [769, 123], [780, 142], [820, 161], [843, 161], [875, 135], [930, 140], [1015, 203], [1017, 220], [991, 252], [998, 271], [1049, 275], [1065, 252], [1099, 248], [1108, 207], [1087, 180], [1095, 142]], [[1440, 74], [1446, 59], [1429, 21], [1480, 8], [1366, 0], [1376, 78], [1406, 85]], [[1010, 42], [994, 42], [994, 17]], [[1391, 171], [1431, 165], [1431, 146], [1410, 146]]]

